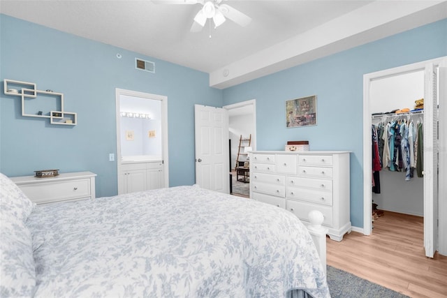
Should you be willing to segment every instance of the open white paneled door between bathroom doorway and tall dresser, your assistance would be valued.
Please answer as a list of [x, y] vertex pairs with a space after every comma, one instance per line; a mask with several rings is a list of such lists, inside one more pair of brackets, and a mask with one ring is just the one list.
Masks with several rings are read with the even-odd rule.
[[196, 184], [229, 193], [228, 111], [194, 105], [196, 137]]

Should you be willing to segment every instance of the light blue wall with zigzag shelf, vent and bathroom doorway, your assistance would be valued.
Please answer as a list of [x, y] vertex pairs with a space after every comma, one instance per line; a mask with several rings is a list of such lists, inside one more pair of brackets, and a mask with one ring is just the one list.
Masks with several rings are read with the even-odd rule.
[[[115, 88], [168, 96], [170, 186], [193, 184], [194, 104], [222, 106], [222, 91], [207, 73], [0, 15], [0, 80], [35, 82], [64, 94], [77, 126], [21, 116], [20, 98], [0, 90], [0, 171], [32, 175], [48, 168], [89, 170], [96, 196], [117, 194]], [[117, 53], [122, 59], [117, 59]], [[154, 61], [156, 73], [135, 69], [135, 57]]]

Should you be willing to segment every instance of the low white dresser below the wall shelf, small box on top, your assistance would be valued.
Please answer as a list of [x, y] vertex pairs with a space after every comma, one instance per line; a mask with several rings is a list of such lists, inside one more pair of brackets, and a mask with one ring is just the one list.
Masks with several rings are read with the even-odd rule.
[[25, 195], [36, 204], [95, 198], [95, 177], [92, 172], [62, 173], [56, 177], [11, 177]]

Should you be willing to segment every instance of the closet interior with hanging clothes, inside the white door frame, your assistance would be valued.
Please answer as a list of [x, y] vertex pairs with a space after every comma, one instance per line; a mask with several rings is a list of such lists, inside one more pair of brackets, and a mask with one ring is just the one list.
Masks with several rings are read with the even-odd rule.
[[376, 80], [370, 95], [374, 220], [380, 210], [423, 216], [424, 71]]

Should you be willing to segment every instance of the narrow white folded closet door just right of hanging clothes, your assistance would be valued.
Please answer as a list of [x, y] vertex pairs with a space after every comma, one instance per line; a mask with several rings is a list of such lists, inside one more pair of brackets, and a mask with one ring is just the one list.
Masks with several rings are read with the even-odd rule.
[[424, 247], [425, 255], [433, 258], [437, 250], [438, 215], [438, 112], [437, 68], [425, 67], [424, 99]]

